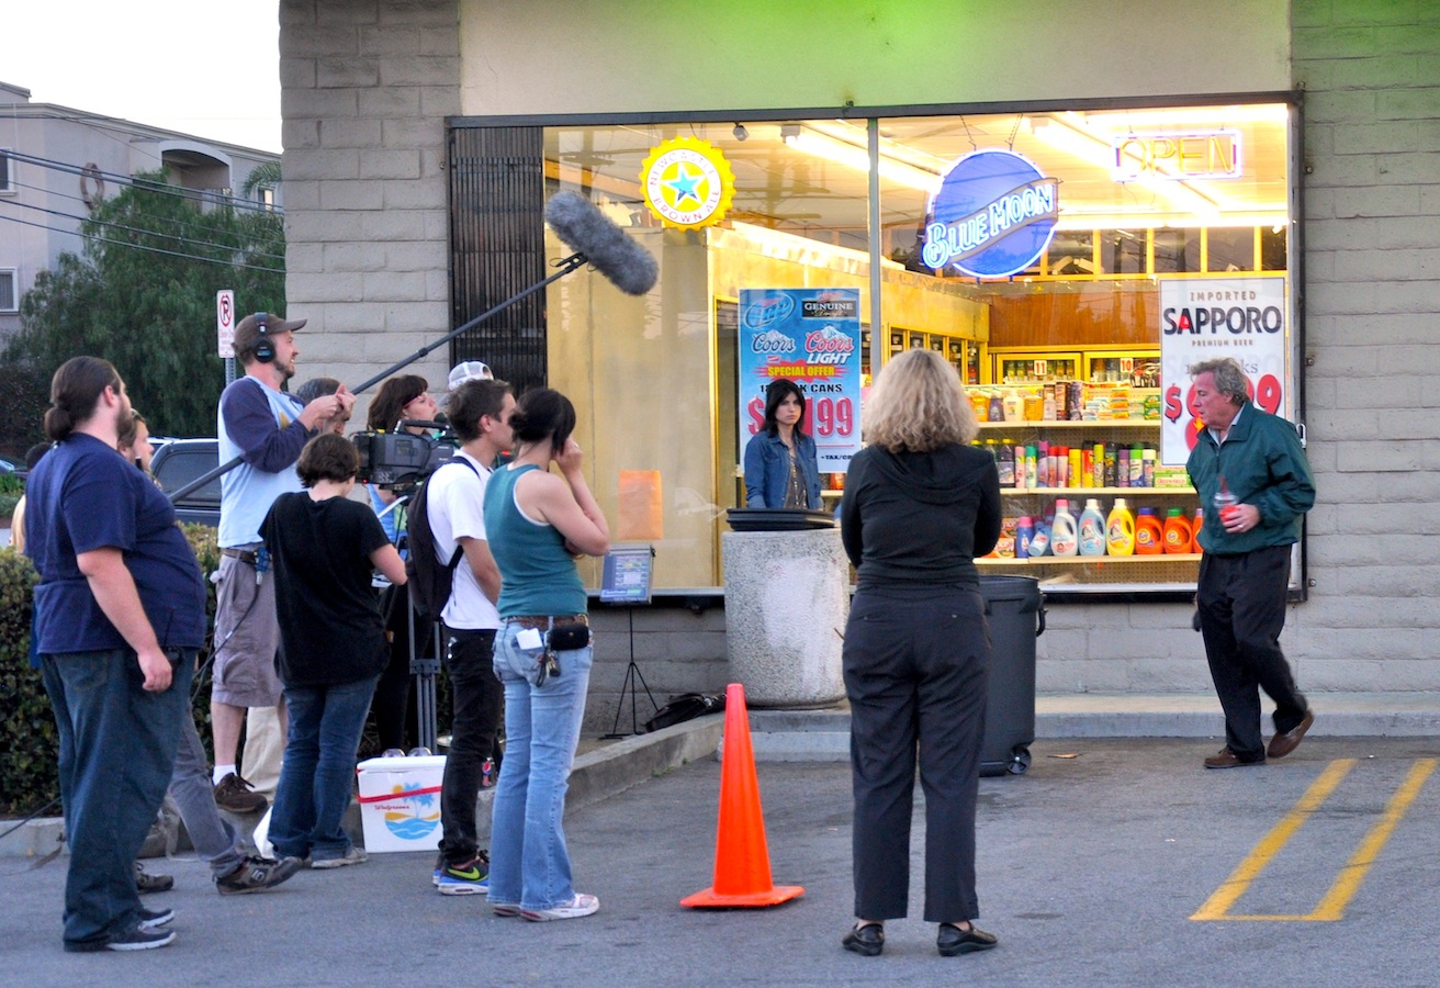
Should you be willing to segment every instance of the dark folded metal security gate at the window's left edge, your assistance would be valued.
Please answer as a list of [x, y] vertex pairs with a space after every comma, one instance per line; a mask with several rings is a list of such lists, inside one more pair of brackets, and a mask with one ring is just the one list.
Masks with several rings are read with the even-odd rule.
[[[451, 324], [543, 281], [544, 153], [540, 127], [449, 131]], [[544, 292], [451, 343], [451, 364], [484, 360], [516, 395], [546, 383]]]

